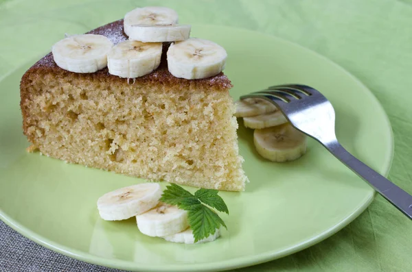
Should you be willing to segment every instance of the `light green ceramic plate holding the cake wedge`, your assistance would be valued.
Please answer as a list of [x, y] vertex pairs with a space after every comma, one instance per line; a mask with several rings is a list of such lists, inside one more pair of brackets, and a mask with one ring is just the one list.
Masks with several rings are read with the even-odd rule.
[[[266, 86], [303, 83], [321, 90], [336, 110], [341, 143], [386, 175], [393, 153], [387, 116], [371, 92], [320, 55], [273, 36], [196, 25], [193, 36], [227, 49], [225, 73], [233, 98]], [[32, 63], [30, 63], [32, 64]], [[139, 233], [133, 219], [100, 219], [96, 200], [115, 188], [144, 182], [26, 153], [19, 81], [28, 66], [0, 81], [0, 218], [21, 234], [67, 256], [139, 271], [216, 271], [258, 264], [331, 236], [374, 199], [374, 190], [314, 140], [296, 162], [258, 156], [252, 130], [240, 121], [240, 153], [250, 184], [222, 192], [228, 230], [214, 243], [181, 245]]]

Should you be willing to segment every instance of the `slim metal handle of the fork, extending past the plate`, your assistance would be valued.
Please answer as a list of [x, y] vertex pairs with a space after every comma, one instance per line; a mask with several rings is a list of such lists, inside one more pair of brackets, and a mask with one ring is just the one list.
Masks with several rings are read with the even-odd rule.
[[393, 206], [403, 212], [409, 219], [412, 219], [412, 195], [409, 195], [374, 169], [352, 156], [337, 141], [332, 144], [328, 143], [325, 147], [354, 173], [368, 182], [382, 197], [385, 197]]

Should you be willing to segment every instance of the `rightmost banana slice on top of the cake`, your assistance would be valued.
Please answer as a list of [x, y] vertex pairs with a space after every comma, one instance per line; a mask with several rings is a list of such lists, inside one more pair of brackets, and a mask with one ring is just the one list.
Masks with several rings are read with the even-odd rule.
[[168, 49], [169, 72], [175, 77], [201, 79], [225, 69], [226, 50], [210, 40], [190, 38]]

